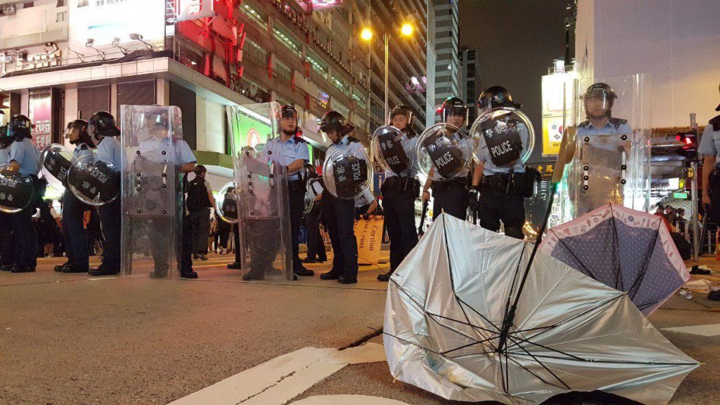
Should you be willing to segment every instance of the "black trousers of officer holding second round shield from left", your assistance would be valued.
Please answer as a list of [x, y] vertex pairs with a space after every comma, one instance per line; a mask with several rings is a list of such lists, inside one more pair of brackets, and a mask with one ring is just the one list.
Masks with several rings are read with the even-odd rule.
[[88, 237], [83, 227], [86, 204], [66, 188], [63, 193], [63, 241], [73, 268], [89, 269]]

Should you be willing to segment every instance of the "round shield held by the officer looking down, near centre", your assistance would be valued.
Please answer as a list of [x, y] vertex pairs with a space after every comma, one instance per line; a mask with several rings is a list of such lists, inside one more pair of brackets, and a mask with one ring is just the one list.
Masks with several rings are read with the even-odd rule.
[[323, 183], [338, 199], [356, 199], [370, 188], [372, 164], [364, 147], [357, 145], [338, 148], [325, 157]]

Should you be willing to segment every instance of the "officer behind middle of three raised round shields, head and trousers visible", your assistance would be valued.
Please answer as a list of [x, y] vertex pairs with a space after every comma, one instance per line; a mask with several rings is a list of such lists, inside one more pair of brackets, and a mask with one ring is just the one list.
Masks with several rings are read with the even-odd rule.
[[[460, 129], [459, 134], [450, 134], [449, 137], [456, 140], [461, 146], [466, 145], [467, 134], [462, 129], [467, 123], [465, 103], [457, 97], [450, 97], [443, 102], [441, 111], [443, 122]], [[471, 157], [463, 156], [463, 158], [469, 160]], [[430, 176], [423, 186], [422, 199], [423, 201], [430, 200], [430, 189], [432, 188], [433, 219], [443, 211], [453, 217], [465, 219], [467, 216], [468, 173], [469, 163], [464, 165], [455, 178], [449, 180], [442, 178], [439, 173], [436, 173], [435, 168], [431, 168]]]

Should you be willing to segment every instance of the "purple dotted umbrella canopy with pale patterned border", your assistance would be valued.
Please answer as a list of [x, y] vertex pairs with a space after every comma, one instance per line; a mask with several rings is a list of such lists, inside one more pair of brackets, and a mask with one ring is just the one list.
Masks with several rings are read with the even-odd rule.
[[646, 316], [690, 280], [663, 218], [615, 204], [549, 229], [539, 250], [626, 291]]

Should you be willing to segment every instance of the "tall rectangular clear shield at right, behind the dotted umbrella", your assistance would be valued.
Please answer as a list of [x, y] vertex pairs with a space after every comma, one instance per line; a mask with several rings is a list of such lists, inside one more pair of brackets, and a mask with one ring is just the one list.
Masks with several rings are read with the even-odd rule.
[[608, 202], [649, 211], [649, 78], [583, 78], [574, 93], [575, 108], [565, 117], [576, 130], [560, 187], [563, 220]]

